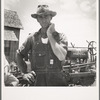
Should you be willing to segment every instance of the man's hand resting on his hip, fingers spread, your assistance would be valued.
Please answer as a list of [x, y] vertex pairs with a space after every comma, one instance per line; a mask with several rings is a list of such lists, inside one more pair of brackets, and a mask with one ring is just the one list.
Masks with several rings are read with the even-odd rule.
[[31, 71], [30, 73], [24, 74], [23, 79], [27, 80], [30, 84], [33, 84], [36, 79], [36, 74], [34, 71]]

